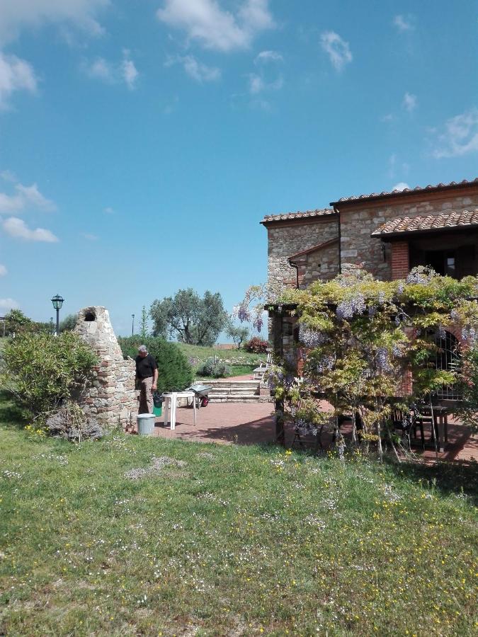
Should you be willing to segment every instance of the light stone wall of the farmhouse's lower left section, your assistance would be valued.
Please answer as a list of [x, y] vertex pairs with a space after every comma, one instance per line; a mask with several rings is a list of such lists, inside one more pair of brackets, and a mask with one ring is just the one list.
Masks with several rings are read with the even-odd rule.
[[[280, 291], [284, 287], [295, 287], [296, 285], [296, 271], [291, 268], [288, 262], [288, 258], [297, 252], [317, 246], [319, 243], [324, 243], [330, 239], [335, 239], [338, 236], [338, 226], [336, 217], [313, 217], [308, 222], [278, 222], [268, 226], [268, 283], [271, 289]], [[318, 272], [317, 278], [324, 277], [324, 271], [326, 272], [326, 278], [330, 278], [329, 272], [331, 268], [331, 254], [335, 251], [335, 261], [338, 264], [338, 243], [334, 246], [325, 248], [327, 251], [326, 263], [324, 262], [325, 270]], [[317, 269], [317, 265], [321, 263], [321, 256], [317, 252], [312, 253], [310, 263], [312, 264], [312, 270]], [[310, 275], [307, 275], [307, 280], [310, 280]]]

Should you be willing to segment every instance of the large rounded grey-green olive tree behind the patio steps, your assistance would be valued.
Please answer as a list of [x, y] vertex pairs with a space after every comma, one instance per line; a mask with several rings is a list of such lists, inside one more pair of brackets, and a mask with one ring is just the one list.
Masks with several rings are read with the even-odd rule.
[[150, 314], [154, 336], [170, 335], [191, 345], [214, 345], [229, 320], [219, 292], [207, 290], [201, 299], [192, 288], [154, 301]]

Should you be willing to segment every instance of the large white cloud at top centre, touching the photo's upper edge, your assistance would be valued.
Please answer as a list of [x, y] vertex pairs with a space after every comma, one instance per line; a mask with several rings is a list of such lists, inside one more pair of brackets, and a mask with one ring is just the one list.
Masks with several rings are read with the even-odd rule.
[[235, 14], [217, 0], [164, 0], [157, 17], [186, 31], [189, 40], [219, 51], [249, 47], [256, 33], [275, 26], [268, 0], [245, 0]]

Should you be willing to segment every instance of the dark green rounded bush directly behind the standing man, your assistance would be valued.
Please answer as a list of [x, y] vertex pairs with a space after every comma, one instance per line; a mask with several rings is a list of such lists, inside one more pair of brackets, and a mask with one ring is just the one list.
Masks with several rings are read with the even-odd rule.
[[161, 336], [130, 336], [118, 338], [123, 356], [136, 358], [140, 345], [146, 345], [148, 352], [158, 364], [158, 391], [182, 391], [193, 382], [193, 370], [188, 359], [178, 348]]

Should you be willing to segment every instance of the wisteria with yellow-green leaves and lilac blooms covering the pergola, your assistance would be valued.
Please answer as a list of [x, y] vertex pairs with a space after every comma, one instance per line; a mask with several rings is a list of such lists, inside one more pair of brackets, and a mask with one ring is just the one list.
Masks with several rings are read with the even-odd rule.
[[[406, 281], [377, 281], [356, 271], [305, 290], [288, 290], [282, 302], [297, 304], [300, 346], [307, 350], [304, 390], [324, 396], [342, 415], [359, 413], [364, 438], [379, 441], [391, 404], [429, 401], [443, 385], [453, 384], [453, 369], [436, 369], [440, 333], [450, 325], [462, 338], [477, 338], [478, 278], [441, 277], [430, 268], [414, 268]], [[276, 396], [288, 398], [295, 357], [285, 361], [282, 378], [273, 381]], [[290, 368], [290, 369], [289, 369]], [[411, 394], [401, 396], [402, 381], [413, 378]], [[478, 379], [478, 377], [477, 377]], [[337, 427], [338, 434], [338, 427]]]

